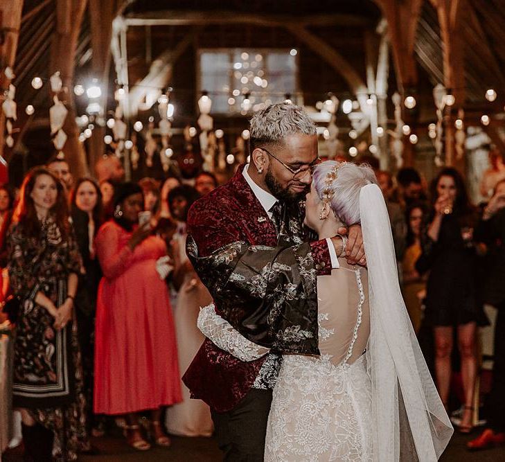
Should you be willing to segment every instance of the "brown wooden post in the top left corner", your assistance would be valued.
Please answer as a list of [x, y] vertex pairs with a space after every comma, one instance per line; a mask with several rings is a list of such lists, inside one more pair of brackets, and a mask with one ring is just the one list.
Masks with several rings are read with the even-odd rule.
[[[4, 66], [14, 67], [22, 10], [23, 0], [0, 2], [0, 69]], [[9, 85], [10, 80], [0, 73], [0, 104], [3, 102], [3, 91], [8, 89]], [[3, 154], [5, 143], [5, 125], [6, 119], [0, 109], [0, 156]]]

